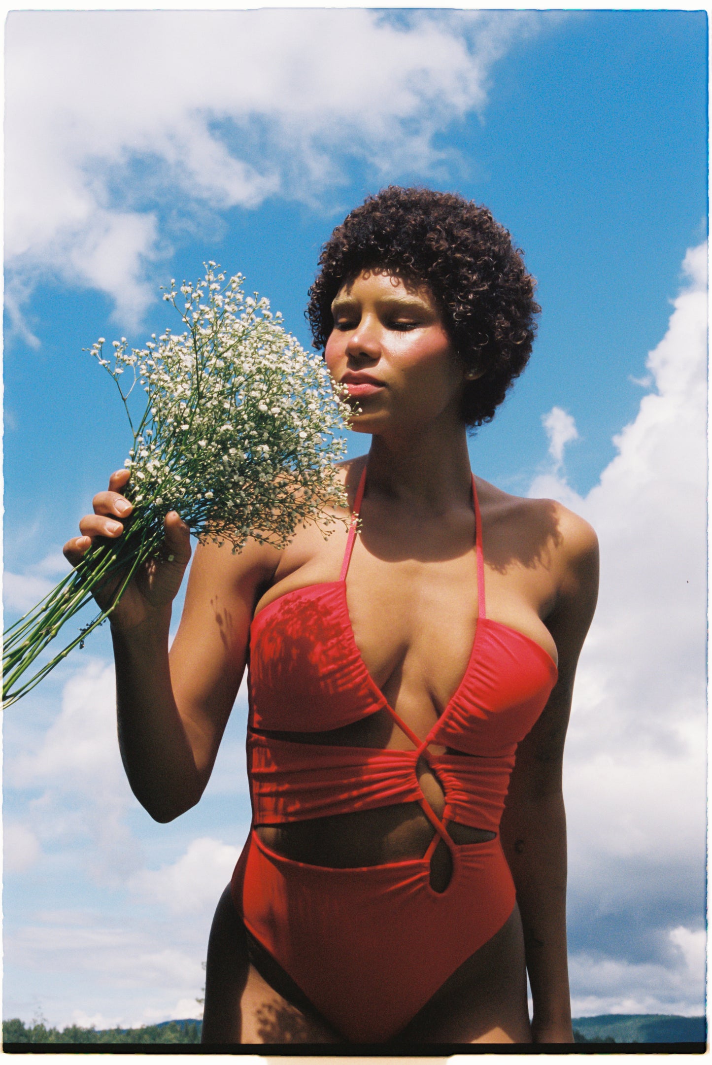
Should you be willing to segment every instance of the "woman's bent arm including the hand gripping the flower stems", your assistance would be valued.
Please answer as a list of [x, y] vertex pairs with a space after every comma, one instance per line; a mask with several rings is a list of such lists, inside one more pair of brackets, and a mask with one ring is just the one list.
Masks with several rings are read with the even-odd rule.
[[[113, 475], [110, 491], [95, 497], [95, 513], [80, 523], [83, 536], [65, 545], [73, 564], [95, 536], [121, 535], [126, 480], [123, 471]], [[166, 519], [164, 554], [166, 561], [137, 574], [112, 615], [121, 758], [134, 794], [158, 821], [189, 809], [208, 784], [245, 669], [259, 589], [279, 557], [255, 543], [236, 555], [229, 545], [198, 546], [169, 654], [171, 603], [191, 556], [177, 514]]]

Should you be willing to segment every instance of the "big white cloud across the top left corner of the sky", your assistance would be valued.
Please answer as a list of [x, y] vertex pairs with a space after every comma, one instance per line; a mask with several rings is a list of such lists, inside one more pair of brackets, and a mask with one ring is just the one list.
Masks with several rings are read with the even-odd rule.
[[11, 320], [33, 340], [21, 304], [49, 274], [106, 293], [134, 326], [153, 298], [151, 263], [196, 210], [251, 208], [274, 195], [322, 207], [347, 159], [377, 179], [432, 173], [435, 131], [482, 111], [493, 64], [540, 19], [367, 9], [12, 12]]

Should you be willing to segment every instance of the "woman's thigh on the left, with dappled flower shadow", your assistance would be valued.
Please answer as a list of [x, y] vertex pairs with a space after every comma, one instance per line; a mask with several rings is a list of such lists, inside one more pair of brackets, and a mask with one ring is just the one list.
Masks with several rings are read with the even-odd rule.
[[337, 1043], [338, 1036], [276, 992], [250, 964], [245, 927], [227, 887], [208, 943], [202, 1042]]

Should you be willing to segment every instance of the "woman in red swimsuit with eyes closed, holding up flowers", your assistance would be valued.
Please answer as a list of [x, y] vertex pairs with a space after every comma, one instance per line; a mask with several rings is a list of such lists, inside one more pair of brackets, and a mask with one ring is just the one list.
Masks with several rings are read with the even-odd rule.
[[[201, 545], [169, 660], [191, 554], [172, 512], [172, 561], [112, 620], [123, 764], [160, 821], [199, 800], [249, 655], [253, 829], [213, 922], [203, 1039], [570, 1042], [561, 763], [596, 539], [474, 478], [466, 445], [528, 360], [533, 281], [486, 210], [397, 187], [320, 266], [315, 343], [372, 438], [342, 465], [348, 535]], [[127, 479], [71, 562], [120, 536]]]

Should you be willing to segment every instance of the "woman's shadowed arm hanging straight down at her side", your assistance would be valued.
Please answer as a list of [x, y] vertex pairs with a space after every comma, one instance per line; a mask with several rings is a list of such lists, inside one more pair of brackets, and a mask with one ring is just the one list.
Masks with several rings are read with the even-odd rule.
[[576, 665], [598, 590], [598, 545], [591, 526], [560, 508], [559, 532], [559, 591], [546, 619], [559, 651], [559, 681], [539, 721], [519, 743], [501, 823], [524, 925], [534, 1043], [574, 1038], [566, 955], [562, 759]]

